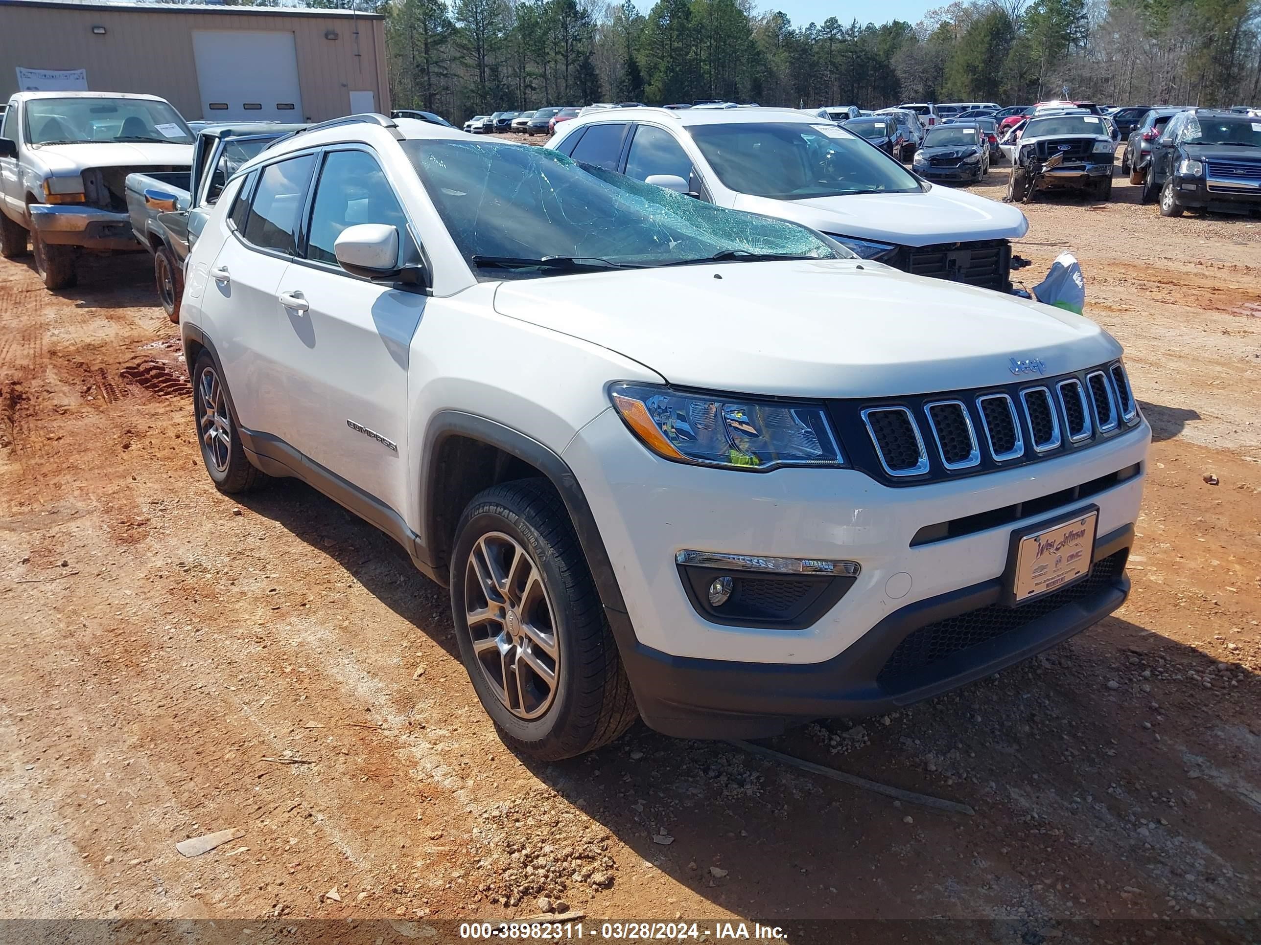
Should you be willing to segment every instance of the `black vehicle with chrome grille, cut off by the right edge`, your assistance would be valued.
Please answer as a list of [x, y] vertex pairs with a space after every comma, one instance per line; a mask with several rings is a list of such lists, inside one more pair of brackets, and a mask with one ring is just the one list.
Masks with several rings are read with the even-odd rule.
[[1151, 142], [1142, 203], [1159, 195], [1161, 217], [1183, 210], [1261, 213], [1261, 122], [1198, 108], [1170, 118]]

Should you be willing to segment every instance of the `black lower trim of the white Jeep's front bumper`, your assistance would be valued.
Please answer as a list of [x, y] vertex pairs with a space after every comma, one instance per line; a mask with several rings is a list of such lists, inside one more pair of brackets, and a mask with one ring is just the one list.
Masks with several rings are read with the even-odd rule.
[[[642, 644], [622, 646], [622, 658], [644, 722], [666, 735], [759, 738], [812, 718], [879, 714], [991, 675], [1106, 617], [1129, 596], [1124, 566], [1132, 542], [1132, 525], [1098, 538], [1096, 562], [1120, 556], [1111, 577], [1067, 597], [1061, 607], [1049, 612], [1043, 607], [1025, 624], [933, 662], [914, 677], [881, 682], [880, 673], [917, 630], [995, 605], [1002, 595], [1001, 578], [908, 605], [825, 663], [696, 659]], [[610, 611], [609, 619], [618, 631], [625, 615]]]

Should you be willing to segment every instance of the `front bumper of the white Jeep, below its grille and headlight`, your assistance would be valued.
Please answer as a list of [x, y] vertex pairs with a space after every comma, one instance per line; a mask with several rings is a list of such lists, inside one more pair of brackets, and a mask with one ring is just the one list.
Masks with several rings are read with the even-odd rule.
[[[670, 726], [671, 718], [681, 717], [670, 707], [686, 699], [670, 694], [668, 680], [681, 680], [686, 696], [689, 689], [700, 693], [711, 679], [718, 690], [696, 697], [702, 714], [720, 709], [765, 716], [778, 718], [782, 727], [786, 719], [811, 713], [876, 712], [895, 696], [913, 701], [958, 685], [1120, 606], [1124, 588], [1117, 582], [1117, 595], [1082, 602], [1081, 612], [1066, 611], [1053, 625], [1028, 630], [1030, 640], [1044, 643], [1011, 643], [1013, 649], [977, 658], [928, 689], [894, 693], [875, 687], [874, 674], [861, 675], [871, 668], [870, 654], [886, 654], [915, 626], [939, 620], [941, 611], [933, 607], [942, 601], [966, 598], [982, 606], [1006, 572], [1014, 530], [1082, 503], [1040, 508], [1001, 527], [912, 547], [919, 529], [1030, 503], [1142, 464], [1150, 438], [1144, 422], [1088, 450], [1028, 466], [890, 488], [849, 469], [755, 474], [667, 462], [649, 454], [608, 410], [578, 433], [564, 459], [583, 484], [625, 601], [625, 614], [610, 611], [609, 619], [644, 718]], [[1100, 537], [1125, 533], [1137, 520], [1142, 479], [1140, 474], [1091, 495]], [[1129, 539], [1121, 547], [1129, 547]], [[847, 559], [859, 562], [861, 573], [803, 629], [726, 626], [692, 606], [675, 564], [683, 549]], [[912, 614], [919, 624], [908, 617]], [[886, 622], [895, 615], [894, 624]], [[1069, 625], [1076, 629], [1066, 630]], [[685, 674], [692, 669], [701, 675]], [[772, 680], [772, 688], [764, 690], [767, 683], [758, 679]], [[798, 689], [802, 702], [793, 697]]]

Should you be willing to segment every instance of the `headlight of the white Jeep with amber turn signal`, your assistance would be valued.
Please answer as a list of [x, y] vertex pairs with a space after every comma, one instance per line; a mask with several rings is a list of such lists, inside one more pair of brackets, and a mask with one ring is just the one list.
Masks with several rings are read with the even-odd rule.
[[842, 464], [822, 404], [628, 383], [609, 397], [639, 441], [675, 462], [749, 471]]

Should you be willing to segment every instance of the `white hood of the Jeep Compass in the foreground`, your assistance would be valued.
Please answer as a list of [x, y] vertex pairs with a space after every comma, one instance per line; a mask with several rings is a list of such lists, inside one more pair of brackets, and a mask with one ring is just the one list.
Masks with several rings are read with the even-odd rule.
[[[721, 276], [721, 278], [718, 278]], [[1079, 315], [856, 260], [734, 262], [502, 282], [501, 315], [632, 358], [668, 383], [784, 397], [894, 397], [1011, 383], [1121, 346]]]

